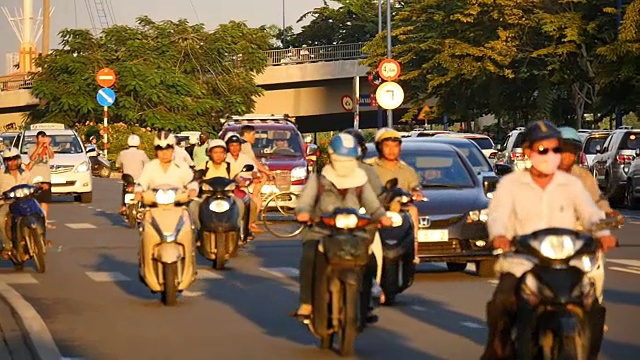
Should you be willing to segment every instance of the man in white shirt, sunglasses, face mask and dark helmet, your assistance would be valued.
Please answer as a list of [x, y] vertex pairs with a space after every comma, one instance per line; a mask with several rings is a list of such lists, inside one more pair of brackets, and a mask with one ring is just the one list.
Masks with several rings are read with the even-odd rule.
[[[525, 155], [531, 160], [529, 171], [513, 172], [500, 180], [489, 203], [487, 227], [493, 247], [507, 252], [511, 239], [547, 228], [576, 230], [576, 219], [590, 229], [604, 219], [580, 180], [558, 171], [562, 158], [562, 134], [548, 121], [531, 123], [525, 131]], [[609, 230], [595, 233], [603, 250], [615, 247], [617, 240]], [[489, 338], [481, 359], [512, 358], [511, 330], [517, 309], [518, 279], [533, 267], [522, 255], [501, 256], [496, 263], [500, 282], [487, 304]], [[581, 262], [573, 264], [582, 268]], [[590, 353], [596, 358], [602, 340], [604, 308], [594, 304], [589, 313], [592, 326]], [[527, 329], [519, 331], [527, 332]]]

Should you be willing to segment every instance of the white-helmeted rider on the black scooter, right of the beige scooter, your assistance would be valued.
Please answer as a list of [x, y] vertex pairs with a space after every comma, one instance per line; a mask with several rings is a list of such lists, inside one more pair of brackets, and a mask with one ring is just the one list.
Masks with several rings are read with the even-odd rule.
[[[204, 168], [204, 180], [214, 177], [223, 177], [231, 179], [231, 164], [225, 161], [227, 156], [227, 145], [220, 139], [209, 140], [209, 159]], [[233, 200], [239, 209], [240, 216], [238, 217], [238, 227], [242, 232], [242, 219], [244, 219], [244, 202], [236, 196], [232, 196]], [[189, 211], [193, 216], [193, 223], [196, 229], [200, 230], [200, 203], [202, 201], [198, 198], [193, 199], [189, 204]]]

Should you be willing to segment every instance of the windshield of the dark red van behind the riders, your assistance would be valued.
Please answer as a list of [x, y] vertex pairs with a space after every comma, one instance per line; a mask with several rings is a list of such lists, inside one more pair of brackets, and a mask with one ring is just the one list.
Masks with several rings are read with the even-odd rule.
[[302, 156], [302, 139], [297, 131], [256, 130], [256, 156]]

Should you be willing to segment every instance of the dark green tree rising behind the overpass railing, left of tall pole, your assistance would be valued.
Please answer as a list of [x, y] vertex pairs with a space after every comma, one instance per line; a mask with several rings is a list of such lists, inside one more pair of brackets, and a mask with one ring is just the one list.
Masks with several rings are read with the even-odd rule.
[[296, 34], [299, 45], [321, 46], [352, 44], [371, 40], [378, 33], [378, 7], [376, 0], [328, 0], [299, 19], [311, 18], [309, 24]]

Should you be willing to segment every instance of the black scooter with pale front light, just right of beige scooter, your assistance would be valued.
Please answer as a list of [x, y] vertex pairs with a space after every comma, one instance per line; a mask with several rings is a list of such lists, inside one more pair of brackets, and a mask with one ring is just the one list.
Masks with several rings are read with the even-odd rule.
[[[241, 172], [253, 171], [253, 165], [245, 165]], [[201, 175], [197, 175], [201, 177]], [[233, 197], [238, 186], [236, 180], [214, 177], [200, 180], [200, 231], [198, 252], [214, 262], [217, 270], [222, 270], [227, 260], [237, 255], [238, 241], [246, 236], [249, 208], [245, 207], [242, 231], [238, 227], [240, 209]], [[250, 201], [250, 200], [249, 200]]]

